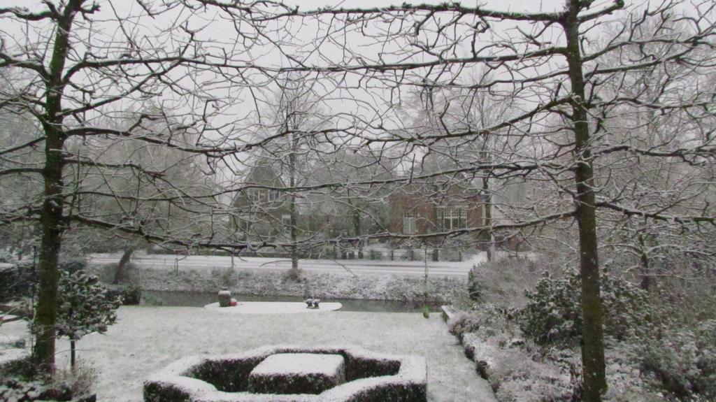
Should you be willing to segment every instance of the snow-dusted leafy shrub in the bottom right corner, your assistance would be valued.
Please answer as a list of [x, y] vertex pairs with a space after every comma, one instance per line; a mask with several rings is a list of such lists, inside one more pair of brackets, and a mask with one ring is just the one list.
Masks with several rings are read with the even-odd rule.
[[716, 320], [661, 328], [644, 345], [644, 371], [679, 398], [716, 400]]

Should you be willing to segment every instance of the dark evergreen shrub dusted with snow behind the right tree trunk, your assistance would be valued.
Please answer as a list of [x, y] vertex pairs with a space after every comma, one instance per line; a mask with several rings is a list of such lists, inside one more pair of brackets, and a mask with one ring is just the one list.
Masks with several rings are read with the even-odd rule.
[[[574, 344], [581, 338], [581, 279], [574, 272], [563, 278], [545, 273], [528, 303], [521, 309], [521, 329], [537, 343]], [[647, 293], [626, 280], [604, 273], [601, 277], [604, 333], [617, 340], [644, 333], [651, 307]]]

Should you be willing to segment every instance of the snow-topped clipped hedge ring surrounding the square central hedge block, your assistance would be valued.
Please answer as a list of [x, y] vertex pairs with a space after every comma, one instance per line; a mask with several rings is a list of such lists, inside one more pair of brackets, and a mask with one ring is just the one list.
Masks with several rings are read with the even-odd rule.
[[[248, 378], [263, 359], [277, 353], [343, 356], [346, 383], [317, 395], [248, 392]], [[354, 347], [264, 347], [223, 356], [192, 356], [155, 373], [144, 384], [145, 402], [248, 401], [426, 401], [425, 358], [369, 353]]]

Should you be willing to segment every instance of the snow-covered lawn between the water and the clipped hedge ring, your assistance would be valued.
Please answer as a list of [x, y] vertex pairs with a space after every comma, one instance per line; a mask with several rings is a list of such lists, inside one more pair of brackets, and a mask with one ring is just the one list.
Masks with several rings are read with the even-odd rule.
[[[0, 329], [1, 330], [1, 329]], [[205, 308], [122, 307], [105, 335], [77, 343], [78, 357], [99, 373], [100, 401], [141, 401], [142, 381], [183, 356], [236, 353], [262, 345], [357, 345], [427, 360], [431, 401], [495, 401], [440, 315], [326, 312], [321, 314], [222, 314]], [[67, 343], [59, 342], [59, 364]]]

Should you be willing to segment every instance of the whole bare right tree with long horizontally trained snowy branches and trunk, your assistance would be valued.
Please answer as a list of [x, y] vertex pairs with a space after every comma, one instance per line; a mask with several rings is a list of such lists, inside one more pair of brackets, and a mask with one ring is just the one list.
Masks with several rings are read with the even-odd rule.
[[[698, 122], [711, 114], [710, 94], [695, 87], [694, 97], [654, 103], [657, 99], [647, 99], [643, 94], [608, 97], [601, 88], [616, 76], [643, 72], [654, 66], [687, 64], [694, 71], [712, 70], [712, 4], [696, 4], [690, 14], [679, 14], [678, 4], [673, 2], [633, 9], [632, 18], [627, 19], [618, 34], [598, 41], [599, 31], [606, 31], [604, 26], [623, 24], [624, 19], [613, 15], [624, 16], [623, 1], [595, 4], [569, 0], [563, 9], [533, 13], [460, 4], [298, 11], [284, 4], [261, 3], [247, 14], [245, 9], [232, 4], [208, 0], [203, 3], [219, 6], [236, 21], [253, 24], [278, 21], [284, 29], [267, 37], [265, 45], [289, 61], [289, 67], [282, 67], [283, 71], [313, 72], [324, 83], [324, 91], [351, 92], [352, 112], [337, 114], [337, 127], [363, 146], [402, 147], [403, 155], [411, 157], [417, 147], [423, 149], [420, 151], [423, 155], [433, 150], [439, 152], [440, 145], [447, 147], [455, 139], [490, 135], [510, 139], [496, 142], [506, 145], [499, 152], [495, 149], [493, 155], [499, 157], [493, 160], [484, 161], [473, 155], [459, 167], [417, 176], [458, 177], [458, 173], [467, 173], [469, 177], [475, 172], [485, 172], [483, 177], [489, 180], [523, 178], [532, 181], [533, 188], [541, 192], [551, 191], [546, 193], [551, 198], [531, 200], [525, 207], [507, 211], [512, 216], [509, 222], [491, 222], [489, 229], [493, 231], [576, 221], [584, 318], [584, 399], [599, 401], [606, 390], [606, 377], [597, 210], [679, 225], [715, 220], [708, 208], [699, 213], [679, 208], [647, 210], [629, 205], [621, 197], [609, 197], [604, 187], [609, 177], [602, 176], [605, 171], [600, 165], [602, 158], [614, 154], [711, 161], [710, 136], [702, 136], [685, 147], [664, 144], [662, 149], [632, 143], [610, 146], [604, 141], [614, 132], [608, 122], [613, 122], [609, 119], [618, 113], [619, 105], [639, 104], [659, 111], [687, 110], [686, 114], [691, 114], [689, 119]], [[634, 35], [652, 18], [677, 19], [688, 28], [674, 32], [669, 31], [668, 24], [657, 23], [664, 28], [642, 37]], [[289, 24], [292, 20], [301, 20], [302, 24]], [[299, 32], [301, 26], [317, 30], [318, 34], [311, 38], [317, 36], [321, 40], [302, 40], [305, 36]], [[291, 38], [290, 46], [285, 38]], [[351, 45], [355, 42], [360, 46]], [[652, 49], [650, 44], [664, 46]], [[617, 64], [601, 62], [606, 54], [623, 56], [624, 49], [635, 46], [642, 52], [634, 57], [619, 57]], [[486, 67], [492, 78], [471, 80], [469, 72], [478, 65]], [[409, 122], [395, 114], [406, 87], [482, 89], [490, 94], [490, 99], [513, 99], [514, 113], [480, 129], [410, 127]], [[629, 132], [624, 134], [631, 136]], [[415, 178], [410, 175], [393, 182], [410, 182]], [[374, 178], [364, 181], [365, 185], [378, 183]], [[470, 227], [451, 230], [450, 234], [485, 229]], [[428, 233], [425, 237], [446, 234]]]

